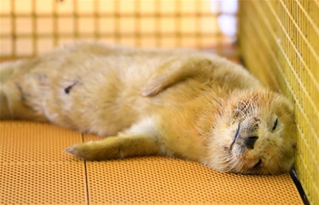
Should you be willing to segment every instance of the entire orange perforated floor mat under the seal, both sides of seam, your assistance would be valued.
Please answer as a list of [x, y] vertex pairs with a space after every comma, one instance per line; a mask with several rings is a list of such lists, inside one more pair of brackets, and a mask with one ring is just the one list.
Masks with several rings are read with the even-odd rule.
[[0, 204], [303, 204], [289, 174], [221, 174], [161, 157], [84, 162], [63, 153], [98, 139], [52, 125], [0, 122]]

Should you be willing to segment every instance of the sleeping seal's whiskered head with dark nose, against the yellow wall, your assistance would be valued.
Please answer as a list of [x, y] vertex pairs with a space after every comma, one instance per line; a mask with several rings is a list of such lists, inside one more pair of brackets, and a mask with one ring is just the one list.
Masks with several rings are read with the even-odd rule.
[[[278, 174], [293, 166], [296, 144], [293, 105], [264, 89], [232, 95], [214, 130], [212, 167], [221, 172]], [[216, 143], [220, 145], [216, 151]]]

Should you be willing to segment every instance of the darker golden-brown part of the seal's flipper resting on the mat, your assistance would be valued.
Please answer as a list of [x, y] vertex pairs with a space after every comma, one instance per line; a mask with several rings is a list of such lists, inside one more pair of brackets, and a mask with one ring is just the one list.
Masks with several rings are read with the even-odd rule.
[[157, 139], [149, 135], [108, 137], [66, 149], [67, 153], [85, 160], [123, 159], [160, 154]]

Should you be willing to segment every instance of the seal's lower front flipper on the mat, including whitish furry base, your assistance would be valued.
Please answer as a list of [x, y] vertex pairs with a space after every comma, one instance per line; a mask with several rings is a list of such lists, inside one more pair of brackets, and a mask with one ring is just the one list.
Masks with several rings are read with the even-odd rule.
[[85, 160], [159, 155], [162, 149], [157, 121], [156, 117], [144, 118], [117, 137], [78, 144], [66, 152]]

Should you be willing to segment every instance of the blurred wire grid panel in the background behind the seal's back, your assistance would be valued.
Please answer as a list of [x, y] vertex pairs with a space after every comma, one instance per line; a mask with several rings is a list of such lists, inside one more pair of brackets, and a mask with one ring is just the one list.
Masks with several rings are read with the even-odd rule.
[[1, 0], [0, 56], [35, 56], [76, 39], [128, 46], [215, 46], [227, 37], [214, 11], [209, 0]]

